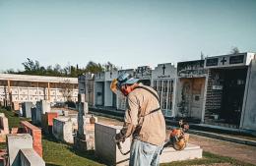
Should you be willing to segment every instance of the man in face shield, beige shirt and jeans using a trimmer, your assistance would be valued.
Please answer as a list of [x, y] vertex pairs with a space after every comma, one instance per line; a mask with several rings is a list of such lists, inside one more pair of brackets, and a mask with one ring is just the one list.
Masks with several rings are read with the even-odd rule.
[[157, 166], [165, 140], [165, 121], [157, 91], [138, 81], [124, 73], [110, 85], [112, 91], [127, 96], [124, 126], [115, 139], [124, 141], [133, 137], [130, 166]]

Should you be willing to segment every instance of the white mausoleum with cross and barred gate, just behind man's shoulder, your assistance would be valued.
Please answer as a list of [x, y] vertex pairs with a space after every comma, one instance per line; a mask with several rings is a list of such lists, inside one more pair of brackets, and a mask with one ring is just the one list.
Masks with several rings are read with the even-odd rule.
[[160, 108], [167, 117], [174, 116], [176, 68], [171, 63], [159, 64], [152, 71], [151, 86], [160, 96]]

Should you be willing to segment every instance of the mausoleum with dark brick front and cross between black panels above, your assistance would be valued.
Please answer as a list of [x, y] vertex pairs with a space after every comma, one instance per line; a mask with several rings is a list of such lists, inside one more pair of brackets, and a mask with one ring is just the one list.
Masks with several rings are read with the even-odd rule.
[[[205, 124], [239, 128], [243, 119], [245, 99], [251, 77], [249, 65], [254, 53], [237, 53], [207, 57], [209, 70], [206, 88]], [[232, 117], [232, 118], [230, 118]], [[254, 120], [253, 120], [254, 121]]]

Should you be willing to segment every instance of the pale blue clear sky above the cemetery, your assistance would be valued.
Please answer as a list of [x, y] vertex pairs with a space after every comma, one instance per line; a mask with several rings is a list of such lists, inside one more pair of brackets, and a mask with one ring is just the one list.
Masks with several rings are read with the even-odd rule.
[[0, 0], [0, 71], [89, 61], [122, 69], [256, 52], [255, 0]]

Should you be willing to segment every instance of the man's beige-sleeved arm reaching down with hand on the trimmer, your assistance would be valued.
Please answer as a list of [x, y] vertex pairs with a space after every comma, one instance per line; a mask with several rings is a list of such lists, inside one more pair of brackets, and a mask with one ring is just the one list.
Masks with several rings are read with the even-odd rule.
[[119, 134], [116, 135], [117, 140], [125, 140], [129, 138], [138, 125], [139, 101], [136, 96], [128, 95], [127, 109], [124, 116], [124, 125]]

